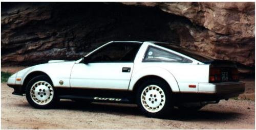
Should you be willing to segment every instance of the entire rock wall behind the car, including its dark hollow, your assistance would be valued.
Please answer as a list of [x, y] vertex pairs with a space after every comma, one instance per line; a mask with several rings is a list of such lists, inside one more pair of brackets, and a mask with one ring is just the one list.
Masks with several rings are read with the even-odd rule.
[[112, 40], [166, 41], [254, 68], [254, 3], [2, 3], [2, 65], [75, 60]]

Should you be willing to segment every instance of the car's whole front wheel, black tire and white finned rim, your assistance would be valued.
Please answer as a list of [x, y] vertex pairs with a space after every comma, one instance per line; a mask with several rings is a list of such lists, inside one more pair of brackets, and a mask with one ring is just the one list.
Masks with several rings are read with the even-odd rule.
[[58, 100], [51, 80], [46, 75], [39, 75], [29, 81], [26, 87], [26, 98], [34, 108], [53, 107]]

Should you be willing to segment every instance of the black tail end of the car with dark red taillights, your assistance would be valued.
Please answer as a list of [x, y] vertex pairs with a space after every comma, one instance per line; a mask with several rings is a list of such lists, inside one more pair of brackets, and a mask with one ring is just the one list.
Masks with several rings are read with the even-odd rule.
[[205, 61], [210, 64], [209, 83], [238, 82], [238, 68], [235, 62], [225, 60]]

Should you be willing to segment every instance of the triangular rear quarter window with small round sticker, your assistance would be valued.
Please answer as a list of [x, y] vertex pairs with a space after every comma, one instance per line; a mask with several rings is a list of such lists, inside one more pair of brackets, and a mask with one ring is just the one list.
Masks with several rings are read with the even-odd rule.
[[191, 63], [192, 61], [166, 50], [153, 46], [148, 47], [143, 62], [182, 62]]

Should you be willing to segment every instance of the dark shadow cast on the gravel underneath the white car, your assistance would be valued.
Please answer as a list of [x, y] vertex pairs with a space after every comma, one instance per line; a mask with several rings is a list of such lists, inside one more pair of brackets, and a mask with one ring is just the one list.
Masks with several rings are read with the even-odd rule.
[[[29, 104], [19, 105], [20, 107], [29, 107]], [[122, 104], [122, 103], [101, 103], [101, 102], [76, 102], [70, 100], [61, 100], [58, 105], [53, 109], [57, 110], [75, 110], [75, 111], [86, 111], [96, 113], [107, 113], [115, 115], [135, 115], [144, 116], [137, 105]], [[165, 117], [159, 117], [160, 119], [167, 120], [179, 120], [179, 121], [214, 121], [214, 120], [228, 120], [238, 118], [243, 114], [236, 112], [219, 112], [219, 111], [184, 111], [174, 109], [172, 113]]]

